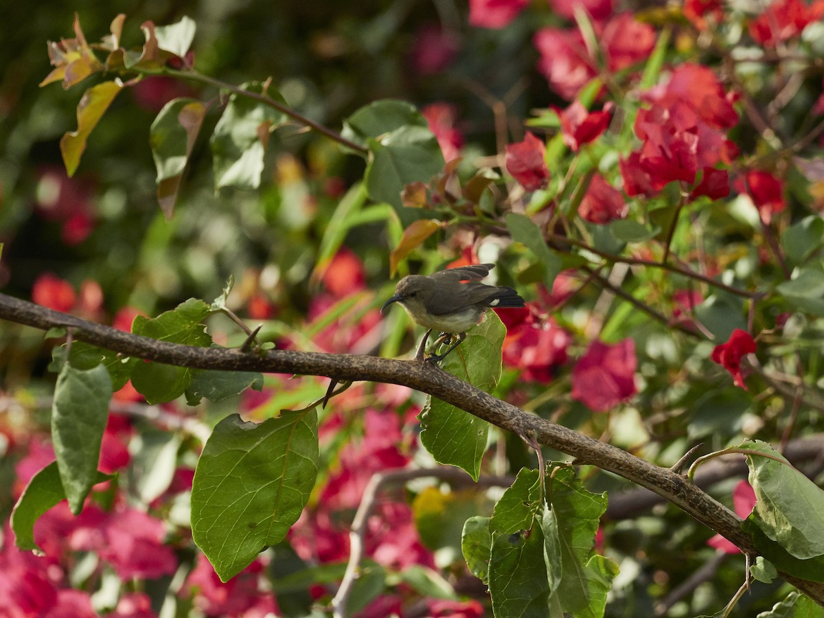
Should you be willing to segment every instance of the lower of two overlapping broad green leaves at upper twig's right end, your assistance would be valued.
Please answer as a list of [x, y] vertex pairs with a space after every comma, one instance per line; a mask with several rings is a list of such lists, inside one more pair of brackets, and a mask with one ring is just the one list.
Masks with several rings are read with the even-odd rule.
[[391, 204], [401, 220], [419, 217], [419, 209], [404, 208], [401, 193], [406, 185], [428, 182], [442, 171], [443, 155], [432, 131], [408, 125], [383, 138], [370, 138], [367, 144], [369, 162], [363, 178], [369, 197]]

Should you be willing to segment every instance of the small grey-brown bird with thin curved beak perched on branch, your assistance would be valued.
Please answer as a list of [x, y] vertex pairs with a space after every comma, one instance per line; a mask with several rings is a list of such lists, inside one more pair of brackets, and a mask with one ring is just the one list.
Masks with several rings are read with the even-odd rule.
[[494, 264], [461, 266], [429, 275], [410, 274], [400, 279], [395, 296], [386, 301], [383, 312], [393, 302], [400, 302], [412, 320], [428, 328], [415, 358], [424, 358], [424, 348], [433, 330], [442, 334], [442, 341], [455, 342], [442, 354], [426, 360], [438, 363], [466, 339], [466, 331], [480, 323], [489, 307], [524, 307], [523, 298], [513, 288], [478, 283], [489, 274]]

